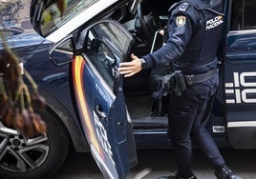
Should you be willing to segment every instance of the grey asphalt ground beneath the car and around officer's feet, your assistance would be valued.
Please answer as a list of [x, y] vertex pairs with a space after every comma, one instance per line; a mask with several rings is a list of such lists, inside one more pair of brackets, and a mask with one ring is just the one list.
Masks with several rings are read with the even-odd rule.
[[[221, 149], [228, 166], [243, 179], [256, 179], [256, 150]], [[139, 149], [139, 164], [126, 179], [157, 179], [174, 174], [176, 164], [171, 149]], [[215, 179], [211, 165], [204, 155], [194, 150], [193, 169], [198, 179]], [[90, 153], [72, 152], [53, 179], [102, 179]]]

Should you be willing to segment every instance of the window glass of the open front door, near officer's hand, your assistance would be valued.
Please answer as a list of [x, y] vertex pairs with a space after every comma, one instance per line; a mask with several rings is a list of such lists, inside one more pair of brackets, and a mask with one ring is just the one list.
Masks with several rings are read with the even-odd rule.
[[117, 77], [117, 62], [122, 60], [127, 40], [123, 30], [110, 22], [97, 24], [87, 31], [84, 51], [112, 90]]

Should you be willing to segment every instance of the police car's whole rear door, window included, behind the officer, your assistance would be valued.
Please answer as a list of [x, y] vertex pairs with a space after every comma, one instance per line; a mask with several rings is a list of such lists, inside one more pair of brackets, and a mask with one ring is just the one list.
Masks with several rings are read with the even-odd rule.
[[231, 31], [224, 56], [228, 140], [236, 149], [256, 149], [256, 3], [237, 0], [229, 5]]

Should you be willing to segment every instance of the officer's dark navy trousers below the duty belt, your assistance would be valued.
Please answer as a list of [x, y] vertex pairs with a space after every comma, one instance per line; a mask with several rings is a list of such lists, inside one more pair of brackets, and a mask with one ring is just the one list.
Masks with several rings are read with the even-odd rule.
[[189, 177], [192, 171], [192, 141], [209, 158], [213, 166], [224, 164], [219, 149], [204, 128], [209, 100], [219, 84], [219, 77], [189, 86], [180, 97], [170, 96], [168, 132], [178, 165], [178, 176]]

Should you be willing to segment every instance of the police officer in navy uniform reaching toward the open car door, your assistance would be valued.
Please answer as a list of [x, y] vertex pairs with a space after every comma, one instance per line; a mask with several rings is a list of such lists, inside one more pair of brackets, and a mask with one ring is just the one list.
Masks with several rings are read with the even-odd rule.
[[208, 157], [218, 179], [240, 179], [224, 162], [211, 135], [204, 128], [205, 110], [215, 93], [219, 76], [216, 52], [221, 37], [224, 14], [221, 0], [183, 0], [170, 9], [168, 40], [155, 52], [120, 64], [124, 77], [142, 69], [172, 64], [181, 70], [186, 89], [180, 96], [170, 95], [168, 133], [172, 139], [178, 171], [169, 179], [195, 179], [192, 171], [192, 141]]

